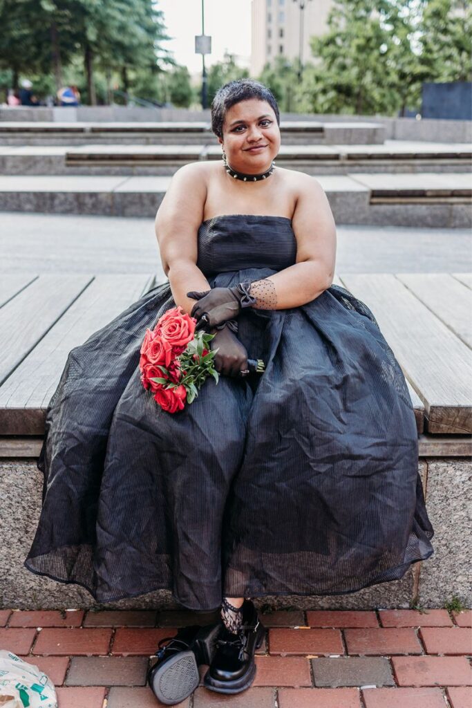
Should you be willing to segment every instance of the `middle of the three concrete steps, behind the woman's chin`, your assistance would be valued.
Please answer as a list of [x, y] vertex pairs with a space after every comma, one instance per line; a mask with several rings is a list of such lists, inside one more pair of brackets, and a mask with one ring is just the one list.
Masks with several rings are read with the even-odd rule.
[[[389, 140], [383, 145], [286, 145], [276, 163], [312, 175], [470, 172], [470, 144]], [[221, 160], [218, 145], [26, 145], [0, 147], [4, 175], [171, 175], [197, 160]]]

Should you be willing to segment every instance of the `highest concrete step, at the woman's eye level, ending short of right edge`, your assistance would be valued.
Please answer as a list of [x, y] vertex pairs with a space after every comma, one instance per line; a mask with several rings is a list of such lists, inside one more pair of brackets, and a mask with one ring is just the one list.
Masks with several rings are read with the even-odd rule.
[[[376, 122], [284, 121], [280, 125], [287, 143], [381, 144], [385, 128]], [[216, 137], [208, 122], [0, 122], [0, 144], [69, 145], [213, 144]]]

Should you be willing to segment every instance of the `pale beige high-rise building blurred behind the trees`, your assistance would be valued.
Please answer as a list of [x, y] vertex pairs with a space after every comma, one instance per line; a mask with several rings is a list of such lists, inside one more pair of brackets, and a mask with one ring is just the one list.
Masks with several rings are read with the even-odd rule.
[[[323, 35], [333, 0], [305, 0], [303, 62], [311, 59], [310, 38]], [[277, 55], [288, 59], [300, 53], [299, 0], [252, 0], [251, 76], [257, 76], [266, 62]]]

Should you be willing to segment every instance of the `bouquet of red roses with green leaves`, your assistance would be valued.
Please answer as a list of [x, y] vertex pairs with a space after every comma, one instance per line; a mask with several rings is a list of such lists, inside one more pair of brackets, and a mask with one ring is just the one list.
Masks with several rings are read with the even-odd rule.
[[196, 324], [178, 305], [159, 318], [154, 330], [146, 329], [139, 359], [141, 382], [169, 413], [182, 411], [185, 401], [192, 403], [207, 377], [218, 383], [217, 350], [209, 349], [214, 334], [195, 331]]

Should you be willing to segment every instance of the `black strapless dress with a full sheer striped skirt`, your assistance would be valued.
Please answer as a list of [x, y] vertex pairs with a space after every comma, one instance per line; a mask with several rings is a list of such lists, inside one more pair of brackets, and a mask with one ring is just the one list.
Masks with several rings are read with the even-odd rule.
[[[212, 287], [295, 258], [284, 217], [223, 215], [198, 232]], [[222, 594], [354, 593], [432, 555], [410, 395], [363, 302], [332, 285], [300, 307], [243, 309], [238, 336], [265, 373], [207, 379], [174, 414], [138, 367], [171, 307], [165, 282], [69, 353], [30, 571], [100, 602], [168, 588], [213, 610]]]

